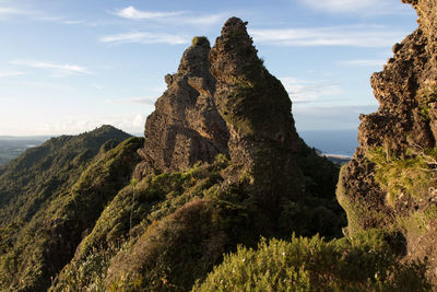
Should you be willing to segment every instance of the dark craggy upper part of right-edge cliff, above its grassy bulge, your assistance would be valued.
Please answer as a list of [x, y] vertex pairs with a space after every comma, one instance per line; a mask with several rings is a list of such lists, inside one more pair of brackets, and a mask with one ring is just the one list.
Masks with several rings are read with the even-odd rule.
[[[437, 138], [437, 4], [402, 0], [418, 14], [418, 28], [393, 46], [383, 71], [370, 80], [380, 107], [362, 116], [361, 148], [402, 154], [412, 145], [435, 147]], [[377, 133], [377, 135], [375, 135]]]

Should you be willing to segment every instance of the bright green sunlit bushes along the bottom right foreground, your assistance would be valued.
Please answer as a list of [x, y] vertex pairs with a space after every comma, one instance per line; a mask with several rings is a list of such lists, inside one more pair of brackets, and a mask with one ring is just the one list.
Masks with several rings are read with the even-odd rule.
[[192, 291], [429, 291], [426, 266], [398, 261], [402, 237], [370, 230], [324, 242], [262, 240], [238, 247]]

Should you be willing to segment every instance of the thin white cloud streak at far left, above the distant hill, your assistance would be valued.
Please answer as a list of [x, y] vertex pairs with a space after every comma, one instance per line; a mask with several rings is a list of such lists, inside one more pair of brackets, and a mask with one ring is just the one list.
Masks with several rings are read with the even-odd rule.
[[12, 61], [12, 65], [26, 66], [32, 68], [48, 69], [55, 72], [55, 77], [64, 77], [71, 74], [91, 74], [91, 71], [82, 66], [70, 63], [56, 63], [35, 60], [17, 60]]

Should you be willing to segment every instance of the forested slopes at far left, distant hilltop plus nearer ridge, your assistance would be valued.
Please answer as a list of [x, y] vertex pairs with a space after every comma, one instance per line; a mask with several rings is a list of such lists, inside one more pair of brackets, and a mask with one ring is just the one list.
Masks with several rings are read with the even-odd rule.
[[104, 126], [51, 139], [8, 165], [0, 177], [1, 290], [47, 289], [129, 182], [143, 143], [129, 137]]

